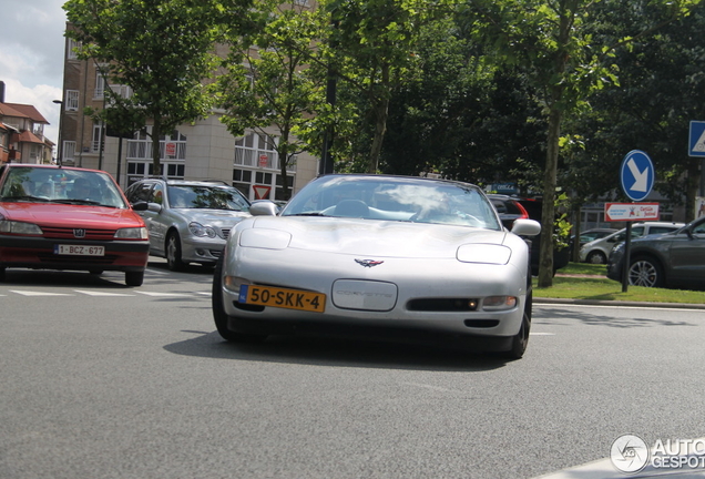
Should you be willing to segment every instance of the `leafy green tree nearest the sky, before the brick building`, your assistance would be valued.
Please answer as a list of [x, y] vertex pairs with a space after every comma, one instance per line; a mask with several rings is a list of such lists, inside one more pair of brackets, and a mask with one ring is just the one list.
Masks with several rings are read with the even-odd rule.
[[[246, 27], [249, 0], [69, 0], [63, 6], [81, 42], [80, 58], [102, 64], [111, 83], [132, 95], [105, 90], [101, 113], [112, 126], [135, 126], [152, 137], [153, 174], [161, 174], [160, 139], [210, 112], [206, 85], [217, 65], [214, 44], [225, 26]], [[146, 129], [152, 122], [151, 132]]]

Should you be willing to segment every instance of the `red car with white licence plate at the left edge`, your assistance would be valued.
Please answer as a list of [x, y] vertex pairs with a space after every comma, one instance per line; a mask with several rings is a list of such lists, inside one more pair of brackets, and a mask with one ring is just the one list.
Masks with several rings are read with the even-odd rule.
[[121, 271], [127, 286], [141, 286], [149, 252], [144, 222], [110, 174], [0, 166], [0, 281], [9, 267]]

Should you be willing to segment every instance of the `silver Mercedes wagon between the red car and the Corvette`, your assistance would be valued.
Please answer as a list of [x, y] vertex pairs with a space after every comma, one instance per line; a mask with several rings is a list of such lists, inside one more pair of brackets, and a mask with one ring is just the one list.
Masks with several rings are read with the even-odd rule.
[[172, 271], [188, 263], [213, 266], [231, 228], [249, 216], [249, 202], [222, 182], [140, 180], [125, 192], [150, 232], [150, 252], [166, 258]]

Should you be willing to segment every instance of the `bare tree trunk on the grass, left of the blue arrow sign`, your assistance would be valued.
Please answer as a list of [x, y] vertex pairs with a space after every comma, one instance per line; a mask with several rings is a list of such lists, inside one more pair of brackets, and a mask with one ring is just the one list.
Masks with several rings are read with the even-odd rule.
[[543, 210], [541, 211], [541, 258], [539, 261], [539, 287], [553, 286], [553, 222], [555, 218], [555, 183], [558, 171], [561, 116], [558, 108], [549, 113], [549, 137], [543, 175]]

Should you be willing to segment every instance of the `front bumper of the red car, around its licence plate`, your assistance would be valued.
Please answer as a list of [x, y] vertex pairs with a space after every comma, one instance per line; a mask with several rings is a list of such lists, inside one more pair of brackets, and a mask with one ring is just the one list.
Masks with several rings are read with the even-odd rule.
[[[55, 245], [104, 246], [103, 256], [73, 256], [54, 253]], [[0, 236], [0, 267], [74, 271], [144, 271], [149, 241], [76, 241], [44, 237]]]

